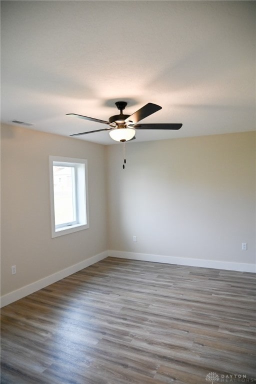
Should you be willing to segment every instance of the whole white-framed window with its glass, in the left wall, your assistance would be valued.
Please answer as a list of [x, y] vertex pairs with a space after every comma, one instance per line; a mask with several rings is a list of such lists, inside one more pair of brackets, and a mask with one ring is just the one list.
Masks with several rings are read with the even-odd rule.
[[87, 160], [49, 156], [51, 236], [89, 227]]

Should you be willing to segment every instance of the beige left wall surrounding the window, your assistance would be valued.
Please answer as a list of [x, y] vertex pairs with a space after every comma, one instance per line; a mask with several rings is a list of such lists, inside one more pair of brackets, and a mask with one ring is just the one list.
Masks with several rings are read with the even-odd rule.
[[[51, 238], [49, 155], [87, 158], [89, 229]], [[2, 125], [1, 295], [107, 249], [105, 160], [104, 145]]]

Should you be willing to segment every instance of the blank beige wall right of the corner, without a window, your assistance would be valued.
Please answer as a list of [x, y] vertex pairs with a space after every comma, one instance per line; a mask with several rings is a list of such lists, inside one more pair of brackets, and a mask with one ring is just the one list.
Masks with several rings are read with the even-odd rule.
[[255, 133], [108, 146], [108, 249], [253, 266]]

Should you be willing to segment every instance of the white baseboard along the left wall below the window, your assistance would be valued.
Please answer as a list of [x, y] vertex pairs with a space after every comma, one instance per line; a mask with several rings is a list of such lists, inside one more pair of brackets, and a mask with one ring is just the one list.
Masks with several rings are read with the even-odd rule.
[[32, 282], [31, 284], [25, 285], [22, 288], [13, 290], [12, 292], [1, 296], [0, 307], [10, 304], [11, 302], [16, 301], [22, 297], [25, 297], [28, 294], [35, 292], [36, 290], [39, 290], [49, 284], [52, 284], [53, 282], [61, 280], [62, 278], [67, 277], [70, 274], [77, 272], [78, 270], [86, 268], [87, 266], [94, 264], [95, 262], [100, 261], [103, 258], [107, 257], [107, 255], [108, 255], [107, 251], [95, 254], [94, 256], [89, 257], [81, 262], [78, 262], [77, 264], [71, 265], [56, 273], [50, 274], [49, 276], [44, 277], [35, 282]]

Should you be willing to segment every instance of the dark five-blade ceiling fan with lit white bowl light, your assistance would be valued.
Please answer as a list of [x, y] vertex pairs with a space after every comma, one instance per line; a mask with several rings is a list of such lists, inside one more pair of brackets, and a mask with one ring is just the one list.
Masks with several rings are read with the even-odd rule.
[[74, 134], [70, 134], [70, 136], [79, 136], [81, 134], [100, 132], [102, 130], [109, 130], [109, 135], [113, 140], [125, 142], [129, 140], [133, 140], [135, 138], [135, 129], [179, 129], [182, 126], [182, 124], [180, 123], [137, 124], [138, 121], [142, 120], [143, 118], [149, 116], [150, 114], [162, 108], [161, 106], [157, 104], [153, 104], [151, 102], [148, 102], [147, 104], [142, 106], [140, 109], [138, 109], [136, 112], [134, 112], [131, 115], [122, 113], [123, 109], [127, 105], [126, 101], [116, 101], [115, 105], [117, 109], [120, 111], [120, 113], [110, 116], [108, 121], [99, 120], [97, 118], [83, 116], [81, 114], [76, 114], [76, 113], [66, 113], [66, 115], [72, 115], [78, 118], [83, 118], [85, 120], [100, 122], [102, 124], [109, 125], [109, 127], [107, 128], [90, 130], [88, 132], [74, 133]]

